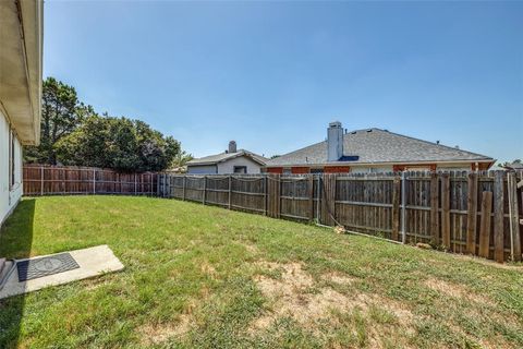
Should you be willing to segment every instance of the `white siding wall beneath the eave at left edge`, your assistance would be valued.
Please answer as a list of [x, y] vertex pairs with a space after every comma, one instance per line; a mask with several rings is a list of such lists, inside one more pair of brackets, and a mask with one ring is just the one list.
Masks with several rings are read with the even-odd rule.
[[22, 146], [19, 140], [14, 142], [14, 180], [9, 188], [9, 123], [0, 110], [0, 224], [14, 209], [22, 197]]

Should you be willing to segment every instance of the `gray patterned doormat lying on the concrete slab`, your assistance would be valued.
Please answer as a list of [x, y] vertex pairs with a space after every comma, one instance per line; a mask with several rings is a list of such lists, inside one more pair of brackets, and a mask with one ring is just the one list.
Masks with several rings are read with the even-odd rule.
[[39, 277], [54, 275], [80, 268], [80, 265], [69, 253], [50, 255], [47, 257], [21, 261], [16, 263], [19, 281], [27, 281]]

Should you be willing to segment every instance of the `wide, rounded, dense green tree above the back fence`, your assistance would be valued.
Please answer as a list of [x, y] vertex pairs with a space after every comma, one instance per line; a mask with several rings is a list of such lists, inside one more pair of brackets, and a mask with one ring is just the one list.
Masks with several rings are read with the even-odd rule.
[[161, 171], [179, 155], [180, 143], [139, 120], [93, 115], [56, 145], [64, 165], [122, 172]]

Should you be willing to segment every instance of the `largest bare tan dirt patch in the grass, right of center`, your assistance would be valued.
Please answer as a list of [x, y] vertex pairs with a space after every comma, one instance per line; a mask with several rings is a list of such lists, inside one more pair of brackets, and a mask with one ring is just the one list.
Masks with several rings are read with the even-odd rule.
[[[314, 278], [303, 269], [300, 263], [258, 263], [258, 265], [269, 270], [281, 272], [281, 277], [278, 279], [268, 276], [255, 277], [262, 293], [271, 301], [271, 310], [251, 324], [252, 332], [267, 328], [282, 316], [290, 316], [314, 330], [314, 324], [317, 321], [332, 318], [333, 310], [346, 312], [358, 308], [365, 313], [372, 306], [391, 312], [401, 324], [409, 324], [412, 321], [413, 316], [409, 310], [376, 294], [345, 296], [329, 287], [315, 288], [317, 285]], [[323, 279], [337, 284], [353, 281], [352, 278], [341, 274], [326, 274]]]

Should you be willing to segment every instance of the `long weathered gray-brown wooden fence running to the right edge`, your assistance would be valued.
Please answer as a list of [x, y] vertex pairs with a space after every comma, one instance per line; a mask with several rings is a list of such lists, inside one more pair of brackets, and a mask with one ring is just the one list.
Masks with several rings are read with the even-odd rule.
[[521, 261], [523, 172], [159, 174], [158, 195]]

